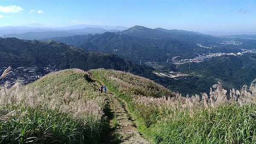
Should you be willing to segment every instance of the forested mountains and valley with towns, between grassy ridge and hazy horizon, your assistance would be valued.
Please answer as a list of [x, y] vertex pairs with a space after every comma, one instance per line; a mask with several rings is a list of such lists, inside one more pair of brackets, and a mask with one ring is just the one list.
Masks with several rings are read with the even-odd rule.
[[[255, 54], [256, 40], [253, 35], [213, 37], [182, 30], [149, 29], [143, 26], [134, 26], [118, 32], [45, 38], [45, 41], [42, 42], [14, 38], [1, 40], [3, 42], [8, 41], [7, 43], [16, 41], [20, 46], [25, 46], [28, 49], [34, 49], [34, 44], [42, 48], [29, 52], [30, 54], [33, 53], [32, 55], [35, 54], [34, 56], [24, 54], [26, 51], [20, 48], [17, 50], [20, 50], [22, 54], [18, 55], [17, 52], [2, 51], [3, 55], [12, 53], [11, 57], [4, 57], [3, 62], [7, 58], [12, 60], [7, 60], [9, 64], [0, 63], [2, 67], [28, 66], [32, 63], [41, 69], [48, 64], [55, 65], [58, 69], [116, 69], [150, 78], [172, 91], [180, 92], [182, 95], [207, 92], [209, 86], [217, 82], [223, 83], [227, 88], [240, 89], [244, 84], [249, 85], [254, 78], [249, 73], [250, 70], [243, 71], [241, 69], [239, 71], [244, 72], [245, 80], [231, 82], [227, 79], [227, 77], [234, 79], [234, 72], [231, 71], [243, 67], [241, 61], [246, 61], [246, 56], [243, 55], [253, 56]], [[7, 43], [3, 43], [3, 46]], [[45, 48], [44, 43], [47, 43], [51, 49]], [[80, 47], [83, 50], [73, 50], [74, 47], [69, 45]], [[18, 47], [18, 45], [12, 45], [12, 47]], [[61, 47], [63, 48], [59, 49]], [[68, 50], [68, 47], [71, 49]], [[61, 52], [58, 52], [59, 50]], [[41, 57], [42, 55], [45, 56]], [[220, 75], [218, 74], [220, 71], [213, 70], [219, 69], [219, 66], [214, 64], [209, 66], [212, 60], [216, 61], [221, 57], [228, 58], [229, 56], [236, 56], [240, 60], [236, 59], [236, 63], [227, 61], [232, 69], [222, 71], [225, 75]], [[251, 61], [252, 66], [255, 63], [253, 58], [254, 56]], [[195, 65], [197, 69], [193, 67]], [[205, 73], [206, 71], [208, 74]], [[215, 76], [212, 77], [209, 73]]]

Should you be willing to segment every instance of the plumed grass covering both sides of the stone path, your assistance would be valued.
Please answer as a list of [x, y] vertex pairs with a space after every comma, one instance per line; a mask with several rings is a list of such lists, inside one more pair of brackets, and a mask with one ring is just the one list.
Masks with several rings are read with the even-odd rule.
[[[90, 72], [126, 101], [138, 130], [152, 143], [256, 143], [256, 80], [240, 90], [215, 84], [208, 94], [181, 96], [131, 73]], [[50, 73], [25, 86], [6, 81], [0, 87], [0, 143], [102, 143], [108, 106], [96, 89], [80, 69]]]

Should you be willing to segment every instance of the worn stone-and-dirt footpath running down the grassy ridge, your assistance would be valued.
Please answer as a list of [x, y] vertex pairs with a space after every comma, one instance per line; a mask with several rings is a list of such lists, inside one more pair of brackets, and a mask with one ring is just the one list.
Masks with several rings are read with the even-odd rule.
[[[95, 77], [92, 77], [92, 80], [97, 88], [104, 85], [101, 81], [96, 80]], [[136, 124], [132, 121], [125, 101], [117, 98], [113, 92], [107, 91], [105, 95], [109, 98], [110, 110], [113, 113], [113, 118], [110, 119], [111, 137], [117, 132], [118, 143], [120, 144], [151, 144], [136, 131]]]

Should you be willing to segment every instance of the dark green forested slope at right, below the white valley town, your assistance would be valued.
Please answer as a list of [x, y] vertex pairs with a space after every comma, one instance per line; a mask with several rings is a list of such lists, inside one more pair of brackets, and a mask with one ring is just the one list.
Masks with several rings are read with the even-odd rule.
[[[240, 56], [224, 55], [212, 57], [200, 63], [184, 63], [177, 66], [176, 69], [172, 69], [179, 73], [188, 74], [187, 76], [177, 78], [162, 76], [162, 78], [154, 79], [154, 81], [172, 91], [180, 92], [182, 95], [209, 93], [208, 87], [218, 82], [225, 89], [239, 90], [244, 85], [250, 85], [251, 81], [256, 78], [255, 68], [256, 55], [253, 53]], [[168, 67], [162, 72], [168, 73]]]

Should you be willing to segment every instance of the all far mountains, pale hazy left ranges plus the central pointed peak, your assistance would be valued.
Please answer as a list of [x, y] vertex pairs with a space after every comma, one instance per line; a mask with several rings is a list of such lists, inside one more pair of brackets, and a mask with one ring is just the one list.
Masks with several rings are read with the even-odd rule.
[[[256, 49], [251, 35], [241, 37], [213, 37], [198, 32], [177, 29], [149, 29], [143, 26], [76, 25], [63, 28], [3, 27], [2, 37], [26, 40], [57, 40], [90, 51], [113, 53], [133, 62], [167, 61], [172, 57], [194, 58], [198, 54], [240, 52]], [[7, 33], [15, 33], [8, 34]], [[248, 38], [246, 38], [248, 37]], [[238, 42], [232, 44], [230, 41]], [[210, 48], [210, 49], [209, 49]]]

